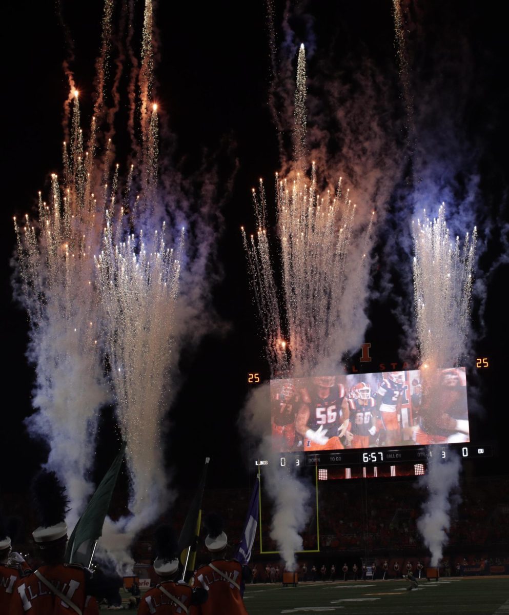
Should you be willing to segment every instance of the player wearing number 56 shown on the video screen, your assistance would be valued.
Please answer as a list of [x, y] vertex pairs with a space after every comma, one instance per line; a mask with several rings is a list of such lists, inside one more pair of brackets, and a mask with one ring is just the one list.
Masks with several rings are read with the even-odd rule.
[[336, 376], [312, 378], [311, 386], [302, 389], [301, 405], [296, 417], [296, 431], [305, 451], [344, 448], [340, 438], [349, 426], [349, 408], [345, 387]]

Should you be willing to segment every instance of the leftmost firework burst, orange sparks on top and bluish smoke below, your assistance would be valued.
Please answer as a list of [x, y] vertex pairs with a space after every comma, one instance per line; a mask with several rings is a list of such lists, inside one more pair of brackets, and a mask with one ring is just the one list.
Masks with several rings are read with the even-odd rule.
[[30, 317], [28, 356], [36, 365], [29, 431], [50, 445], [47, 466], [57, 471], [71, 499], [76, 523], [93, 486], [97, 413], [109, 400], [100, 357], [100, 319], [93, 288], [92, 255], [100, 247], [101, 204], [94, 196], [98, 173], [90, 169], [74, 95], [71, 145], [64, 146], [60, 186], [52, 175], [49, 204], [39, 195], [37, 225], [26, 218], [15, 230], [22, 277], [20, 300]]

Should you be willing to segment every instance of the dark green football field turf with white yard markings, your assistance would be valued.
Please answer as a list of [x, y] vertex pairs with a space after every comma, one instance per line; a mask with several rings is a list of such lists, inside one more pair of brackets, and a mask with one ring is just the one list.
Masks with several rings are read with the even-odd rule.
[[408, 582], [356, 581], [248, 585], [244, 594], [250, 615], [337, 613], [359, 615], [502, 615], [509, 614], [508, 577], [444, 578]]

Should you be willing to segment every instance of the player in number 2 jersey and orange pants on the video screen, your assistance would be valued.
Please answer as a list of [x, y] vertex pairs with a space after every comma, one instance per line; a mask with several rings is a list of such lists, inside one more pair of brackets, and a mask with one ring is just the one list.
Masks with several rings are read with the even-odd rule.
[[404, 371], [389, 371], [378, 386], [379, 446], [393, 446], [401, 440], [401, 400], [406, 393], [404, 380]]

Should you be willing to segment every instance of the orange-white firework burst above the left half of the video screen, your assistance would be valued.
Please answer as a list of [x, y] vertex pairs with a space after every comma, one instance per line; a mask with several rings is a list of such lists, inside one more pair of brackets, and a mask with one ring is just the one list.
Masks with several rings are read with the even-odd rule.
[[315, 164], [302, 170], [306, 152], [306, 68], [299, 50], [295, 95], [293, 178], [276, 174], [277, 239], [283, 292], [267, 237], [267, 200], [260, 180], [253, 189], [258, 232], [243, 242], [251, 286], [266, 338], [272, 373], [296, 375], [334, 369], [342, 355], [361, 342], [367, 287], [367, 254], [373, 214], [355, 221], [356, 206], [340, 178], [336, 191], [318, 191]]

